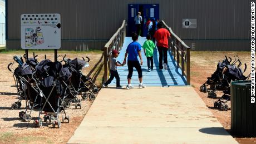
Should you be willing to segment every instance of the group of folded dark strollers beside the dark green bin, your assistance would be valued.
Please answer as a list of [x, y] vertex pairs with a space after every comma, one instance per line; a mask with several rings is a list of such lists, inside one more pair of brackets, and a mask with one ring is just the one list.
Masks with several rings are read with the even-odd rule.
[[201, 92], [208, 92], [209, 98], [216, 98], [216, 91], [223, 92], [223, 95], [213, 103], [213, 106], [220, 111], [228, 111], [231, 108], [230, 83], [232, 81], [248, 80], [250, 77], [250, 74], [244, 76], [247, 64], [244, 63], [244, 70], [240, 68], [241, 66], [242, 62], [238, 56], [234, 57], [234, 61], [232, 61], [232, 58], [225, 56], [225, 59], [217, 64], [216, 71], [200, 87]]

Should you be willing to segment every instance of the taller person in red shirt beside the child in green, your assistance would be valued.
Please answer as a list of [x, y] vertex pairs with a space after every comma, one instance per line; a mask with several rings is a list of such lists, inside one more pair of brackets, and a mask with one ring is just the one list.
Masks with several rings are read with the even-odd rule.
[[164, 55], [164, 69], [167, 69], [167, 51], [168, 51], [168, 39], [171, 37], [170, 32], [162, 28], [161, 23], [157, 23], [157, 31], [154, 34], [156, 39], [156, 46], [159, 52], [159, 69], [163, 69], [163, 55]]

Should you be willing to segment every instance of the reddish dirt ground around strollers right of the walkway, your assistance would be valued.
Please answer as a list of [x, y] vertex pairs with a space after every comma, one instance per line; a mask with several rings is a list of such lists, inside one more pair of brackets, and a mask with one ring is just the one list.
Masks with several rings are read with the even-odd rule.
[[[229, 132], [231, 123], [231, 111], [219, 111], [214, 108], [214, 102], [217, 98], [223, 95], [222, 92], [217, 93], [217, 98], [209, 98], [208, 93], [200, 92], [200, 86], [210, 77], [216, 70], [219, 61], [222, 61], [226, 56], [234, 59], [234, 56], [239, 56], [243, 63], [241, 66], [244, 69], [244, 63], [247, 63], [247, 71], [244, 75], [250, 73], [250, 53], [249, 52], [191, 52], [191, 85], [194, 87], [198, 95], [203, 99], [205, 105], [211, 110], [213, 115], [219, 120], [221, 125]], [[256, 138], [235, 138], [239, 143], [256, 143]]]

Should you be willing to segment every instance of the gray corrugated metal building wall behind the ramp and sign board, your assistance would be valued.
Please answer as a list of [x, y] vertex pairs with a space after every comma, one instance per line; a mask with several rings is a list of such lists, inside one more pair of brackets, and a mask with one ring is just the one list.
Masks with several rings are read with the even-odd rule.
[[[20, 48], [22, 13], [60, 13], [61, 49], [102, 49], [127, 19], [128, 4], [159, 4], [163, 19], [195, 50], [248, 51], [249, 0], [8, 0], [7, 49]], [[197, 28], [182, 28], [183, 18], [196, 18]]]

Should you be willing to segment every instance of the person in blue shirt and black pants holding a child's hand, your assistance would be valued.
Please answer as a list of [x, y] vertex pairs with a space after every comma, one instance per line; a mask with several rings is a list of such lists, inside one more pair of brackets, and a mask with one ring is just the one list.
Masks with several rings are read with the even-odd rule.
[[[126, 53], [125, 53], [125, 59], [123, 64], [126, 64], [126, 58], [128, 55], [128, 60], [127, 60], [127, 64], [128, 64], [128, 76], [127, 76], [127, 81], [128, 81], [128, 85], [126, 86], [126, 89], [129, 90], [132, 88], [131, 85], [131, 77], [132, 77], [132, 72], [134, 71], [134, 67], [136, 68], [138, 75], [139, 75], [139, 88], [143, 88], [145, 87], [144, 83], [142, 83], [142, 69], [141, 66], [143, 64], [142, 61], [142, 57], [141, 57], [141, 45], [140, 43], [137, 42], [138, 40], [138, 35], [137, 33], [132, 33], [131, 36], [133, 42], [131, 42], [127, 49], [126, 49]], [[140, 57], [140, 62], [139, 59], [137, 57]]]

